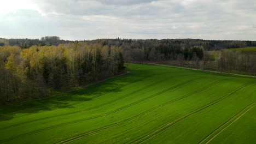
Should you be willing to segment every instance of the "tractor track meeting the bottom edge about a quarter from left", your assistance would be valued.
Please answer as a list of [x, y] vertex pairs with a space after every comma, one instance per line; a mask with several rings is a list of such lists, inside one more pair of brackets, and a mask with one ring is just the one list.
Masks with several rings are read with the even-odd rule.
[[[113, 128], [113, 127], [115, 127], [115, 126], [124, 124], [124, 123], [126, 123], [126, 122], [134, 121], [135, 119], [138, 119], [138, 118], [140, 118], [140, 117], [142, 117], [142, 116], [145, 116], [145, 115], [147, 115], [147, 114], [150, 113], [150, 112], [153, 112], [153, 111], [155, 111], [155, 110], [158, 110], [158, 109], [160, 109], [161, 107], [164, 107], [164, 106], [166, 106], [166, 105], [168, 105], [168, 104], [174, 103], [175, 101], [178, 101], [178, 100], [184, 99], [184, 98], [186, 98], [186, 97], [189, 97], [190, 95], [193, 95], [193, 94], [195, 94], [195, 93], [199, 93], [199, 92], [201, 92], [201, 91], [203, 91], [203, 90], [205, 90], [205, 89], [207, 89], [207, 88], [209, 88], [209, 87], [211, 87], [211, 86], [213, 86], [213, 85], [216, 85], [217, 83], [222, 82], [222, 81], [224, 81], [224, 79], [223, 79], [223, 80], [216, 81], [216, 82], [213, 82], [213, 83], [211, 83], [210, 85], [208, 85], [208, 86], [206, 86], [206, 87], [203, 87], [203, 88], [201, 88], [201, 89], [199, 89], [199, 90], [197, 90], [197, 91], [194, 91], [194, 92], [192, 92], [192, 93], [183, 95], [182, 97], [179, 97], [179, 98], [177, 98], [177, 99], [170, 100], [170, 101], [168, 101], [167, 103], [164, 103], [164, 104], [161, 104], [161, 105], [159, 105], [159, 106], [156, 106], [156, 107], [154, 107], [153, 109], [147, 110], [147, 111], [145, 111], [145, 112], [143, 112], [143, 113], [140, 113], [139, 115], [136, 115], [136, 116], [134, 116], [134, 117], [125, 119], [124, 121], [121, 121], [121, 122], [118, 122], [118, 123], [114, 123], [114, 124], [110, 124], [110, 125], [107, 125], [107, 126], [105, 126], [105, 127], [98, 128], [98, 129], [95, 129], [95, 130], [92, 130], [92, 131], [88, 131], [88, 132], [86, 132], [86, 133], [79, 134], [79, 135], [77, 135], [77, 136], [73, 136], [73, 137], [71, 137], [71, 138], [69, 138], [69, 139], [66, 139], [66, 140], [63, 140], [63, 141], [61, 141], [61, 142], [59, 142], [59, 143], [69, 143], [69, 142], [72, 142], [72, 141], [81, 139], [81, 138], [83, 138], [84, 136], [88, 136], [88, 135], [91, 135], [91, 134], [95, 134], [95, 133], [97, 133], [98, 131], [102, 131], [102, 130], [106, 130], [106, 129], [109, 129], [109, 128]], [[58, 144], [59, 144], [59, 143], [58, 143]]]

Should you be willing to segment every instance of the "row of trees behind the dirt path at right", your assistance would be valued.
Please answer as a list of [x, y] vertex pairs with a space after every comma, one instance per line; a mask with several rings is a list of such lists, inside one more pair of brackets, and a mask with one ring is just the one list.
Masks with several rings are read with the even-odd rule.
[[125, 49], [126, 62], [156, 62], [159, 64], [176, 65], [203, 70], [214, 70], [227, 73], [256, 74], [256, 53], [239, 51], [205, 51], [202, 46], [180, 49], [179, 52], [161, 53], [155, 48]]

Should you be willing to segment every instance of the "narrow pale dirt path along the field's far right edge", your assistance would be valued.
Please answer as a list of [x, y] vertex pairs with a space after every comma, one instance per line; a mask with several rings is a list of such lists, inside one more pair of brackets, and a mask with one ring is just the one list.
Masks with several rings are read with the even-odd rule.
[[174, 67], [174, 68], [182, 68], [182, 69], [191, 69], [191, 70], [201, 70], [201, 71], [208, 71], [211, 73], [219, 73], [219, 74], [229, 74], [229, 75], [237, 75], [237, 76], [245, 76], [245, 77], [253, 77], [251, 75], [240, 75], [240, 74], [232, 74], [232, 73], [225, 73], [225, 72], [220, 72], [220, 71], [213, 71], [213, 70], [202, 70], [202, 69], [194, 69], [194, 68], [185, 68], [185, 67], [177, 67], [177, 66], [172, 66], [172, 65], [165, 65], [165, 64], [156, 64], [156, 63], [143, 63], [143, 62], [131, 62], [135, 64], [153, 64], [153, 65], [161, 65], [161, 66], [166, 66], [166, 67]]

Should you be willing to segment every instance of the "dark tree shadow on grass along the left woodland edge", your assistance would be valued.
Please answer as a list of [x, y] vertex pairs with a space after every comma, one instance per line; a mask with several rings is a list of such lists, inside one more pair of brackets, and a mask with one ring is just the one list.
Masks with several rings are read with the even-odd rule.
[[[94, 100], [94, 98], [101, 97], [104, 94], [121, 92], [120, 88], [148, 77], [148, 75], [145, 75], [146, 71], [144, 70], [133, 70], [133, 72], [133, 74], [114, 77], [113, 79], [54, 97], [2, 106], [0, 107], [0, 121], [8, 121], [17, 117], [56, 109], [75, 108], [75, 105], [79, 103]], [[86, 105], [86, 103], [84, 104]]]

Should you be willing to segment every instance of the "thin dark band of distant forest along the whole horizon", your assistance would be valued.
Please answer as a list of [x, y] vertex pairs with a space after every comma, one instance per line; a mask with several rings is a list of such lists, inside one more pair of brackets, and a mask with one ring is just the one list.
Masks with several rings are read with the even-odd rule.
[[[109, 43], [109, 41], [119, 41], [123, 43], [148, 43], [148, 41], [158, 41], [158, 43], [161, 44], [171, 44], [174, 46], [177, 46], [178, 43], [183, 44], [184, 47], [190, 47], [190, 45], [193, 46], [203, 46], [205, 50], [220, 50], [220, 49], [234, 49], [234, 48], [242, 48], [242, 47], [249, 47], [249, 46], [256, 46], [256, 40], [207, 40], [207, 39], [190, 39], [190, 38], [184, 38], [184, 39], [172, 39], [172, 38], [166, 38], [166, 39], [124, 39], [124, 38], [106, 38], [106, 39], [92, 39], [92, 40], [63, 40], [58, 36], [46, 36], [42, 37], [40, 39], [30, 39], [30, 38], [21, 38], [21, 39], [14, 39], [14, 38], [0, 38], [0, 46], [3, 45], [18, 45], [21, 48], [28, 48], [32, 45], [59, 45], [59, 44], [68, 44], [73, 43], [75, 41], [84, 41], [88, 42], [91, 41], [92, 43], [100, 43], [104, 41], [103, 43]], [[99, 42], [100, 41], [100, 42]], [[166, 41], [168, 41], [166, 43]], [[110, 42], [111, 43], [111, 42]], [[188, 44], [188, 45], [186, 45]]]

